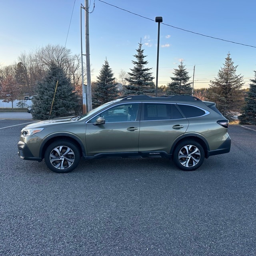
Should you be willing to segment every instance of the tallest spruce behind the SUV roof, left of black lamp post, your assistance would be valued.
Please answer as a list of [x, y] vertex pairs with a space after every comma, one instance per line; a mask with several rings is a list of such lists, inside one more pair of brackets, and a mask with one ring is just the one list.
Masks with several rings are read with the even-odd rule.
[[146, 56], [141, 42], [136, 51], [134, 57], [137, 61], [132, 60], [134, 68], [130, 68], [131, 72], [128, 72], [128, 77], [125, 78], [128, 84], [124, 86], [124, 95], [152, 94], [155, 92], [154, 77], [149, 72], [152, 68], [145, 68], [148, 61], [144, 60]]

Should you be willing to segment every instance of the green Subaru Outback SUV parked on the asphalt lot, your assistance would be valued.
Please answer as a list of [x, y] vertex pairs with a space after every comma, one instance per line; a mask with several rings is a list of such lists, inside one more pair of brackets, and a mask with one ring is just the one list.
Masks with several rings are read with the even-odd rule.
[[18, 155], [54, 172], [74, 170], [83, 156], [172, 158], [182, 170], [230, 151], [228, 120], [213, 102], [193, 96], [128, 96], [83, 116], [35, 122], [21, 130]]

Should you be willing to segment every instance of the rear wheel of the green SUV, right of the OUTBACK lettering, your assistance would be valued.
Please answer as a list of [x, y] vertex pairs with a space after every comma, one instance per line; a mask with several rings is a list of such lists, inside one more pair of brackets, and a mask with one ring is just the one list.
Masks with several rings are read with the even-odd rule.
[[180, 142], [173, 152], [173, 162], [184, 171], [194, 171], [204, 162], [204, 148], [194, 140]]

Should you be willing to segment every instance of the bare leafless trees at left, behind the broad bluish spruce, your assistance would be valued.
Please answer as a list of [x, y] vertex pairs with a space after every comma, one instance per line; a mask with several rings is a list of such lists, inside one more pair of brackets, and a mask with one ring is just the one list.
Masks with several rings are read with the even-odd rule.
[[[20, 54], [13, 65], [0, 66], [0, 97], [4, 98], [5, 102], [13, 103], [21, 96], [36, 95], [38, 83], [47, 76], [52, 64], [61, 68], [72, 90], [82, 95], [81, 57], [72, 55], [71, 50], [63, 46], [49, 44]], [[78, 97], [78, 101], [79, 98], [81, 97]], [[82, 101], [78, 103], [80, 106]]]

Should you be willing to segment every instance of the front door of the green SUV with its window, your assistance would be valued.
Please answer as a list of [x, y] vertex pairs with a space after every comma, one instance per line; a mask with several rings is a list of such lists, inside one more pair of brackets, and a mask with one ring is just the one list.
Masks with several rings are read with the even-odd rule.
[[[86, 125], [87, 155], [138, 152], [139, 106], [139, 103], [120, 104], [92, 118]], [[100, 116], [105, 124], [94, 125]]]

